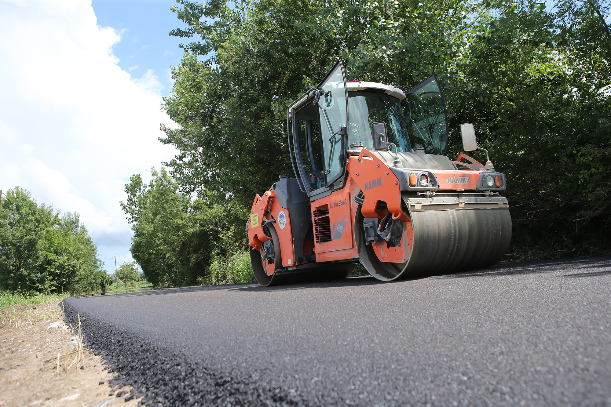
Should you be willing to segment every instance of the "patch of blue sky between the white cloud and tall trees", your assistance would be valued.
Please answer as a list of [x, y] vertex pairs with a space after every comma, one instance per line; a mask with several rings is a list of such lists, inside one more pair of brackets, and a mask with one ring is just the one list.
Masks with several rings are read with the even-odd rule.
[[118, 65], [134, 78], [153, 70], [163, 96], [172, 90], [170, 65], [180, 64], [183, 55], [178, 45], [189, 42], [168, 35], [172, 29], [186, 26], [170, 11], [172, 5], [177, 5], [175, 0], [92, 0], [98, 26], [120, 33], [120, 42], [112, 47]]

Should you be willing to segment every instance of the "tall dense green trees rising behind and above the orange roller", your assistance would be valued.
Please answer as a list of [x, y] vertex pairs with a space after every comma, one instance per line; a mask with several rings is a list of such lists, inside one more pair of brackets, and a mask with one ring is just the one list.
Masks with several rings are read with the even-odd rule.
[[[291, 172], [285, 108], [338, 57], [349, 79], [407, 87], [434, 73], [508, 176], [513, 259], [611, 250], [609, 4], [560, 0], [180, 0], [191, 39], [165, 101], [162, 141], [181, 190], [249, 207]], [[477, 153], [476, 153], [477, 155]], [[484, 159], [476, 156], [480, 160]]]

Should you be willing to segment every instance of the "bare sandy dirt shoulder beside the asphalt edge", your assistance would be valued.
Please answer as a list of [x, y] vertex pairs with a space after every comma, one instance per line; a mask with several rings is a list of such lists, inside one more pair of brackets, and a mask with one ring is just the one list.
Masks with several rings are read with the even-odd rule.
[[2, 310], [0, 406], [139, 405], [131, 387], [111, 388], [104, 361], [62, 318], [59, 303]]

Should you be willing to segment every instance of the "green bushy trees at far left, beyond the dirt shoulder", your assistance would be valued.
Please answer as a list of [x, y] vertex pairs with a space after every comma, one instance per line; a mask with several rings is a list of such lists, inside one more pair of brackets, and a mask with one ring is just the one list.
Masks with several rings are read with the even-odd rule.
[[25, 189], [9, 189], [0, 212], [0, 284], [39, 293], [91, 292], [108, 275], [77, 213], [38, 204]]

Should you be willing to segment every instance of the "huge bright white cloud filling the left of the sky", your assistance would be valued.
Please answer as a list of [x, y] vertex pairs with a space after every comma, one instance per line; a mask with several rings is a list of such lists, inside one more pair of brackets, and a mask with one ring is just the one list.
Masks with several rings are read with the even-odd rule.
[[120, 33], [89, 0], [0, 0], [0, 37], [0, 189], [80, 213], [104, 257], [130, 261], [123, 186], [175, 155], [158, 78], [117, 65]]

